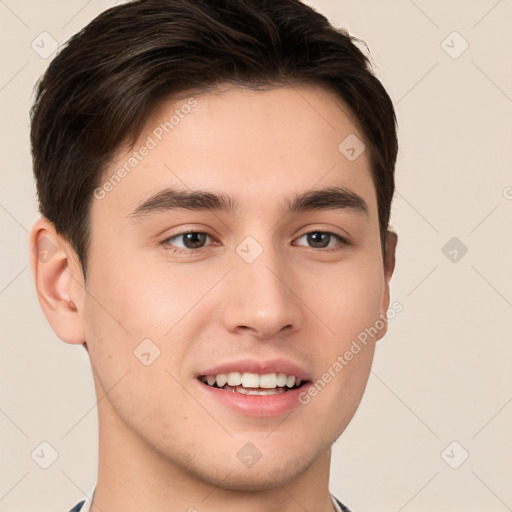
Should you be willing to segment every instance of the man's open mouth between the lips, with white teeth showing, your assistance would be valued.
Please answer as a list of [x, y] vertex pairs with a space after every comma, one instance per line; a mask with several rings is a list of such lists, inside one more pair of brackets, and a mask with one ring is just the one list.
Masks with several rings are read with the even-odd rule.
[[200, 375], [198, 380], [211, 388], [251, 396], [280, 395], [302, 388], [310, 383], [286, 373], [230, 372]]

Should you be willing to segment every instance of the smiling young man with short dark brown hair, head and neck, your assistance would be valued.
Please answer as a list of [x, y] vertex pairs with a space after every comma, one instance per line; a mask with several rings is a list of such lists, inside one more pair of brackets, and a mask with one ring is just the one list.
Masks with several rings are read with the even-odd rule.
[[348, 510], [331, 446], [397, 241], [395, 114], [351, 36], [297, 0], [117, 6], [51, 63], [31, 141], [39, 301], [98, 399], [72, 510]]

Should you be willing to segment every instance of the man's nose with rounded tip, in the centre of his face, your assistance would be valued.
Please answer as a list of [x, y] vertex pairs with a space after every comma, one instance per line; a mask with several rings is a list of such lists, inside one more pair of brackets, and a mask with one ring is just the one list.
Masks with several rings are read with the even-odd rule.
[[225, 328], [260, 339], [300, 329], [302, 302], [294, 291], [298, 288], [295, 281], [292, 269], [287, 269], [284, 261], [278, 261], [271, 250], [263, 251], [252, 263], [235, 261], [224, 283]]

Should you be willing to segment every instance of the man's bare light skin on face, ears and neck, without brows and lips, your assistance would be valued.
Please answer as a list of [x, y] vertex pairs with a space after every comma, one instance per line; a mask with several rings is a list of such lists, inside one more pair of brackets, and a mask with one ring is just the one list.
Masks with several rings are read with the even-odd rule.
[[[386, 314], [397, 237], [388, 232], [383, 261], [368, 151], [351, 162], [338, 150], [348, 135], [363, 136], [332, 92], [225, 88], [194, 98], [172, 133], [92, 201], [85, 285], [50, 222], [38, 220], [30, 234], [31, 246], [47, 237], [58, 248], [49, 261], [31, 261], [46, 317], [63, 341], [85, 344], [91, 360], [100, 434], [92, 510], [332, 511], [331, 445], [360, 403], [386, 326], [292, 414], [237, 414], [200, 392], [195, 375], [254, 356], [290, 359], [321, 378]], [[185, 101], [162, 103], [134, 147]], [[132, 151], [120, 150], [106, 177]], [[153, 193], [184, 184], [229, 194], [241, 211], [129, 219]], [[283, 215], [295, 193], [332, 185], [360, 195], [369, 216]], [[188, 229], [211, 237], [196, 254], [165, 249], [166, 239]], [[325, 252], [303, 236], [315, 231], [351, 244], [332, 239], [329, 248], [339, 250]], [[247, 236], [263, 248], [251, 264], [235, 251]], [[177, 237], [167, 247], [185, 243]], [[146, 338], [161, 351], [149, 366], [133, 354]], [[247, 442], [262, 453], [250, 468], [236, 456]]]

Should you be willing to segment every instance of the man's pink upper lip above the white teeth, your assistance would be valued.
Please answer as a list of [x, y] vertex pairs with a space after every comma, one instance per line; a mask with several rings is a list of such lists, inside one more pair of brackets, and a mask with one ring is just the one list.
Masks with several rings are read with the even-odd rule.
[[257, 373], [265, 375], [267, 373], [285, 373], [294, 375], [302, 381], [311, 380], [309, 373], [300, 368], [300, 366], [286, 359], [240, 359], [238, 361], [229, 361], [199, 372], [196, 377], [204, 375], [218, 375], [219, 373]]

